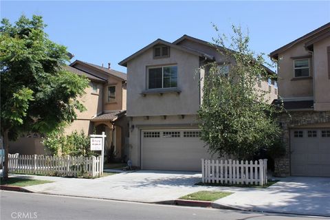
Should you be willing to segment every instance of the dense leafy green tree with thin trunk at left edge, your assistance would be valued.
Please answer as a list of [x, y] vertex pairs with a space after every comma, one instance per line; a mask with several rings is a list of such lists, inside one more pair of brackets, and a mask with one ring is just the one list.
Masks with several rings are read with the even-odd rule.
[[87, 78], [65, 71], [67, 49], [48, 38], [42, 17], [22, 16], [16, 23], [1, 21], [1, 136], [8, 178], [8, 142], [23, 131], [50, 133], [76, 119], [85, 107]]

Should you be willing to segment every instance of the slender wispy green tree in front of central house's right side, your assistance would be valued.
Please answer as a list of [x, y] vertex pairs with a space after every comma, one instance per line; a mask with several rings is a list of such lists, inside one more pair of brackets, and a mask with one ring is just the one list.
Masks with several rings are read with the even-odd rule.
[[272, 146], [281, 129], [275, 118], [278, 110], [267, 104], [267, 91], [256, 87], [257, 80], [270, 77], [264, 54], [249, 49], [249, 38], [241, 28], [232, 25], [232, 30], [229, 38], [217, 34], [213, 39], [224, 65], [229, 66], [228, 74], [217, 63], [202, 68], [206, 74], [198, 112], [201, 140], [213, 155], [250, 159], [261, 148]]

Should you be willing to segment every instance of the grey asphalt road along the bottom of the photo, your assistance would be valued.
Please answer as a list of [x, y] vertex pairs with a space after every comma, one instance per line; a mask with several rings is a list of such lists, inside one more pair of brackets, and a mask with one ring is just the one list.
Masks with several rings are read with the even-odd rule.
[[260, 212], [155, 205], [27, 192], [0, 191], [1, 220], [6, 219], [322, 219]]

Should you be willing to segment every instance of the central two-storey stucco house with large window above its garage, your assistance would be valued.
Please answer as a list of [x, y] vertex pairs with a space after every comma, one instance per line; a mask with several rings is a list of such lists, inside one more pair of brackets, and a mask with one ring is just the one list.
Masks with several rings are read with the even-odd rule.
[[[210, 155], [197, 124], [199, 80], [205, 74], [199, 67], [213, 61], [226, 69], [223, 63], [228, 61], [215, 47], [184, 35], [173, 43], [157, 39], [119, 63], [127, 67], [129, 158], [134, 166], [201, 170], [201, 158]], [[256, 86], [270, 89], [270, 102], [277, 98], [272, 84], [256, 80]]]

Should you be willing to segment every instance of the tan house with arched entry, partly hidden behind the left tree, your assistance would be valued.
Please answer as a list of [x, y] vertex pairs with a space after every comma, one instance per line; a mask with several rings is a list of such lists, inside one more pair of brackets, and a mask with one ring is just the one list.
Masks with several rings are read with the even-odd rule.
[[[84, 131], [85, 134], [107, 135], [106, 148], [113, 144], [116, 158], [126, 159], [128, 154], [125, 137], [128, 135], [126, 121], [126, 74], [109, 67], [100, 67], [83, 61], [65, 67], [67, 71], [89, 78], [89, 87], [80, 101], [87, 111], [77, 113], [77, 119], [65, 128], [65, 133]], [[10, 153], [43, 154], [42, 138], [38, 133], [23, 135], [17, 142], [10, 142]]]

